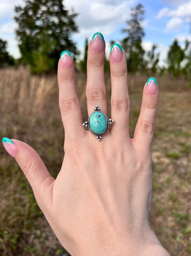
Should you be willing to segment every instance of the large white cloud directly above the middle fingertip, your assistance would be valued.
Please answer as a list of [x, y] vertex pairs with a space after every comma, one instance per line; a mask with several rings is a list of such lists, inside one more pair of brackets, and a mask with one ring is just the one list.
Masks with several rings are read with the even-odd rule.
[[81, 38], [91, 38], [95, 32], [109, 35], [129, 18], [130, 5], [135, 0], [65, 0], [66, 9], [73, 8], [79, 15], [76, 24]]

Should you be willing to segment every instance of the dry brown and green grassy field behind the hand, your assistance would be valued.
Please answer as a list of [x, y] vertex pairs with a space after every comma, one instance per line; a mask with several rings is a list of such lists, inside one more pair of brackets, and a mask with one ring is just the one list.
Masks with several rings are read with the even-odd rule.
[[[150, 223], [171, 256], [188, 256], [191, 253], [191, 89], [181, 79], [156, 78], [159, 108], [152, 146]], [[131, 137], [147, 79], [147, 76], [128, 76]], [[109, 74], [105, 83], [109, 109]], [[76, 73], [76, 84], [85, 120], [86, 76]], [[64, 156], [56, 75], [31, 76], [23, 67], [1, 69], [0, 102], [0, 137], [31, 145], [56, 178]], [[3, 144], [0, 154], [0, 255], [63, 256], [66, 252], [35, 202], [27, 179]]]

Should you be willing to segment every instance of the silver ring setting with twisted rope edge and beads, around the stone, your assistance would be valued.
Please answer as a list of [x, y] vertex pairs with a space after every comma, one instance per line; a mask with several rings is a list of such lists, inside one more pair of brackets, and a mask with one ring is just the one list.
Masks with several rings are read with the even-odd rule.
[[[103, 133], [94, 133], [94, 131], [92, 131], [92, 129], [91, 129], [91, 127], [90, 127], [90, 117], [92, 116], [92, 114], [94, 114], [94, 113], [96, 113], [96, 112], [102, 113], [102, 114], [104, 115], [105, 119], [106, 119], [107, 126], [106, 126], [106, 129], [105, 129], [105, 131], [104, 131]], [[102, 136], [103, 136], [104, 134], [106, 134], [106, 132], [108, 131], [109, 125], [110, 125], [111, 123], [113, 123], [113, 122], [114, 122], [114, 120], [111, 120], [111, 118], [109, 119], [108, 116], [106, 115], [106, 113], [104, 113], [103, 111], [101, 111], [100, 108], [96, 105], [94, 111], [89, 115], [88, 120], [87, 120], [85, 123], [83, 123], [83, 126], [88, 127], [89, 131], [90, 131], [93, 135], [97, 136], [97, 139], [100, 141], [101, 138], [102, 138]]]

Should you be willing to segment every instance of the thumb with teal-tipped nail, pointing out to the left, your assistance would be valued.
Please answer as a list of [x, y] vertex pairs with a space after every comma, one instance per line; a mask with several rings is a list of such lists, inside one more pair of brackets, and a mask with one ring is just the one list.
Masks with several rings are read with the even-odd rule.
[[15, 158], [27, 177], [40, 208], [47, 201], [52, 202], [54, 178], [49, 174], [38, 153], [19, 140], [3, 138], [2, 141], [6, 151]]

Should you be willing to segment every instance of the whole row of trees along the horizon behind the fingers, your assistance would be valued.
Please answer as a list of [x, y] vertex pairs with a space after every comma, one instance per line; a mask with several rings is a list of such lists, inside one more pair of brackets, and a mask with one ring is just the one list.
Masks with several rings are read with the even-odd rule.
[[[126, 52], [128, 71], [132, 73], [164, 72], [172, 77], [183, 76], [191, 79], [191, 42], [185, 42], [182, 49], [177, 39], [169, 46], [166, 67], [159, 67], [157, 45], [146, 52], [143, 49], [145, 35], [142, 23], [144, 6], [137, 4], [131, 9], [130, 18], [122, 30], [124, 39], [120, 44]], [[29, 65], [32, 73], [45, 73], [57, 69], [61, 51], [69, 50], [74, 61], [80, 54], [76, 42], [71, 37], [78, 32], [75, 23], [76, 13], [69, 12], [62, 0], [27, 0], [25, 5], [15, 6], [16, 39], [19, 42], [21, 57], [14, 60], [8, 54], [7, 42], [0, 39], [0, 67], [5, 64]], [[112, 45], [115, 41], [111, 41]], [[85, 41], [83, 59], [77, 67], [86, 72], [88, 40]], [[105, 71], [109, 71], [109, 61], [105, 59]]]

